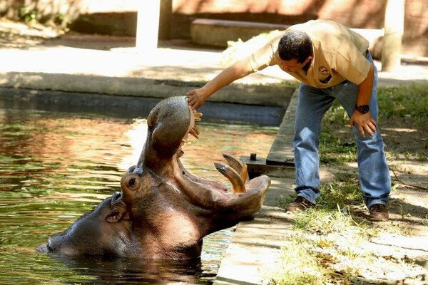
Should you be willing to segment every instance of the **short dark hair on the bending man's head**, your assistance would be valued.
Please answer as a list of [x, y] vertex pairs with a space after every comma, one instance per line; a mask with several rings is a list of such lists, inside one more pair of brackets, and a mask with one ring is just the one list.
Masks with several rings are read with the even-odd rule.
[[278, 43], [278, 55], [283, 61], [297, 59], [303, 63], [312, 56], [312, 41], [303, 31], [286, 31]]

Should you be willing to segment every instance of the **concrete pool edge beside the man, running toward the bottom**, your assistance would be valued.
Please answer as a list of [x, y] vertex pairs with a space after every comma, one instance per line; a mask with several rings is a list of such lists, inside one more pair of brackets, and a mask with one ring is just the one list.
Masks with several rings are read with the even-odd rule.
[[[225, 258], [220, 263], [215, 285], [266, 284], [280, 260], [281, 247], [292, 231], [290, 214], [277, 207], [277, 203], [280, 197], [294, 193], [294, 167], [290, 160], [296, 104], [297, 90], [290, 99], [267, 156], [272, 157], [275, 164], [263, 162], [260, 166], [271, 179], [263, 207], [252, 221], [240, 222], [236, 227]], [[253, 165], [248, 165], [249, 171], [252, 168]]]

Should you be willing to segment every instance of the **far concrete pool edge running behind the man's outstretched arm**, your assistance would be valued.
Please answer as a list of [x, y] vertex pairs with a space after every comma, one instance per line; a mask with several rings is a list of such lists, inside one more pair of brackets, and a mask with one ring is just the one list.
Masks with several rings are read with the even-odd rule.
[[[203, 81], [173, 81], [151, 78], [126, 78], [98, 75], [38, 72], [0, 72], [0, 88], [53, 90], [70, 93], [94, 93], [138, 98], [164, 99], [185, 95], [203, 85]], [[295, 87], [278, 84], [233, 83], [219, 90], [207, 102], [265, 105], [287, 108]]]

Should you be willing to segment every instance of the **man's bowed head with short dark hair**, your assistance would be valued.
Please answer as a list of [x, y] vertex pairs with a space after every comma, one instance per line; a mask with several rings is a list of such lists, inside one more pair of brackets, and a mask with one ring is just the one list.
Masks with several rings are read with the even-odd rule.
[[312, 60], [312, 41], [302, 31], [286, 31], [278, 43], [280, 68], [295, 72]]

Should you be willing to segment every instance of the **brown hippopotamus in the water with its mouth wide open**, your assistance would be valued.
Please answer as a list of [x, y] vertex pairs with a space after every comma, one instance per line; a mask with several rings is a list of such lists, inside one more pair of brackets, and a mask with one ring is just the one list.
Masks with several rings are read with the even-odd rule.
[[200, 257], [203, 237], [253, 217], [270, 178], [248, 178], [245, 163], [223, 154], [215, 163], [230, 186], [188, 172], [180, 162], [188, 135], [198, 138], [184, 96], [161, 100], [147, 118], [138, 162], [121, 178], [121, 192], [104, 199], [64, 232], [53, 234], [46, 252], [67, 256], [189, 259]]

